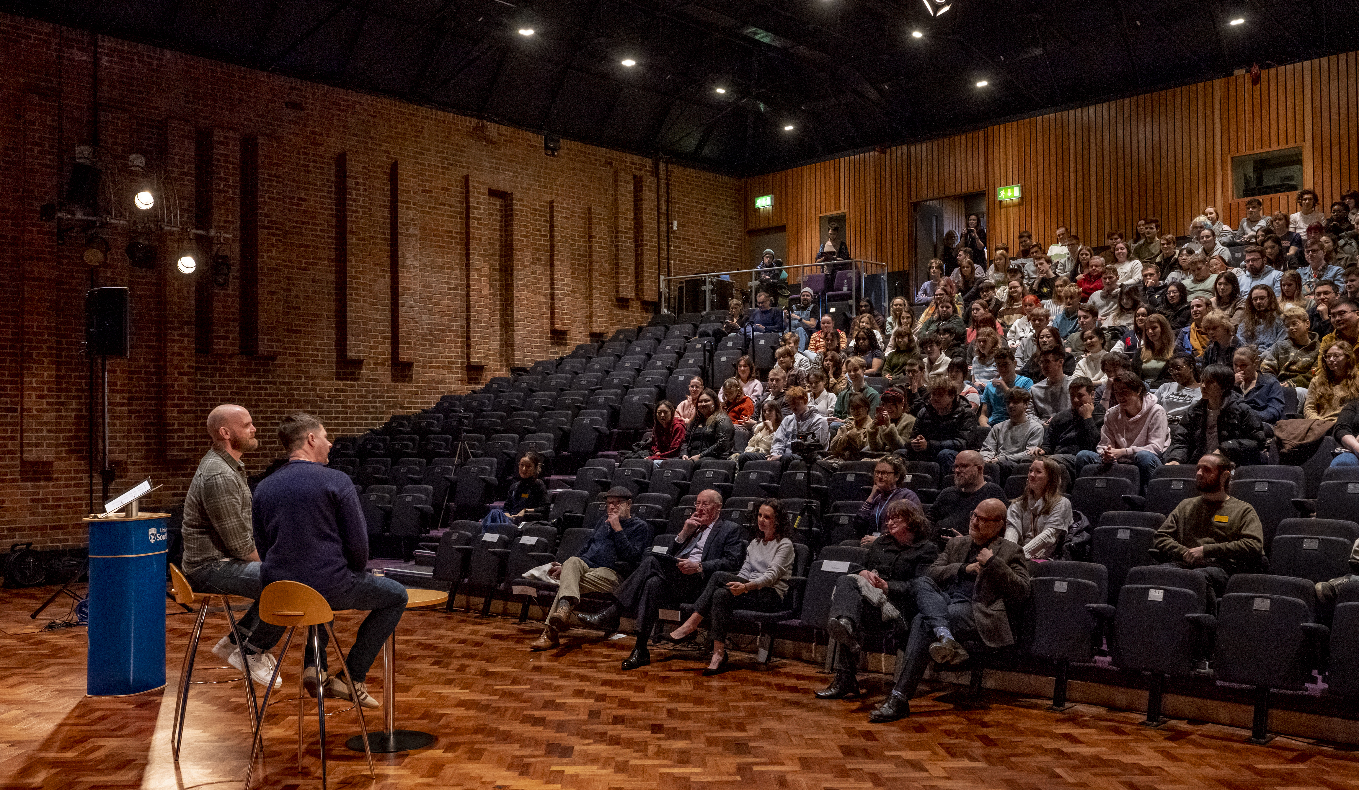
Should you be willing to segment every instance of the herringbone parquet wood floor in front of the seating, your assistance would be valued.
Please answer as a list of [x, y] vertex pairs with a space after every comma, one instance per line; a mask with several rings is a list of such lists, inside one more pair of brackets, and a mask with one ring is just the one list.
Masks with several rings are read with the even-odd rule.
[[[178, 767], [170, 755], [174, 676], [193, 623], [169, 617], [170, 687], [124, 699], [87, 699], [84, 628], [33, 632], [27, 612], [41, 590], [0, 593], [0, 787], [102, 790], [239, 787], [249, 752], [239, 684], [193, 687]], [[60, 606], [56, 613], [64, 613]], [[222, 625], [208, 623], [200, 664]], [[359, 617], [342, 613], [352, 638]], [[855, 787], [1250, 790], [1359, 787], [1359, 755], [1277, 738], [1173, 722], [1137, 726], [1136, 712], [1078, 706], [1064, 714], [1044, 700], [988, 692], [984, 710], [949, 700], [938, 685], [912, 704], [912, 718], [870, 725], [872, 700], [822, 702], [815, 666], [738, 655], [735, 669], [700, 677], [697, 655], [654, 650], [652, 664], [622, 673], [628, 640], [571, 632], [554, 653], [529, 653], [537, 630], [508, 619], [442, 611], [408, 612], [398, 631], [397, 725], [436, 733], [434, 748], [375, 756], [344, 749], [352, 712], [330, 717], [332, 787], [474, 787], [519, 790], [718, 790]], [[296, 688], [300, 651], [285, 665]], [[381, 664], [378, 668], [381, 670]], [[224, 677], [208, 672], [202, 679]], [[381, 693], [381, 672], [370, 676]], [[868, 676], [874, 693], [889, 679]], [[310, 706], [310, 700], [308, 700]], [[266, 759], [255, 787], [321, 787], [308, 745], [296, 761], [296, 706], [273, 707]], [[315, 736], [308, 707], [307, 732]], [[370, 714], [370, 726], [381, 715]]]

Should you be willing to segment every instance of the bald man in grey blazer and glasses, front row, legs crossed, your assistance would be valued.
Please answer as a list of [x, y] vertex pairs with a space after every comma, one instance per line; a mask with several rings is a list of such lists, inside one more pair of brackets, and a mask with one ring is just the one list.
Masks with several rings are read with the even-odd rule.
[[1006, 503], [984, 499], [972, 510], [968, 534], [949, 541], [939, 559], [912, 586], [916, 608], [906, 643], [901, 680], [871, 722], [894, 722], [911, 715], [911, 698], [930, 661], [962, 664], [964, 643], [974, 649], [1014, 645], [1007, 612], [1029, 598], [1029, 566], [1023, 549], [1002, 537]]

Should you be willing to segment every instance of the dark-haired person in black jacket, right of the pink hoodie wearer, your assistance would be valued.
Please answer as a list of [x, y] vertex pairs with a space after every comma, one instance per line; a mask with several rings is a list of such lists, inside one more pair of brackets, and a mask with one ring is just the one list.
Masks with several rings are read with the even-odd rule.
[[1233, 389], [1231, 368], [1210, 364], [1203, 368], [1203, 398], [1189, 408], [1166, 450], [1166, 464], [1186, 464], [1208, 453], [1220, 453], [1234, 464], [1260, 462], [1265, 431], [1246, 400]]

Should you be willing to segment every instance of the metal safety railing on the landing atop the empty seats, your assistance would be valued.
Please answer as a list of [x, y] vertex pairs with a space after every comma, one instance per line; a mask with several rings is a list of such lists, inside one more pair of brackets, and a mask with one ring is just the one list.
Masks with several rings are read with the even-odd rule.
[[[874, 307], [882, 313], [886, 309], [886, 273], [887, 264], [855, 258], [848, 261], [833, 261], [822, 264], [784, 264], [776, 269], [730, 269], [724, 272], [700, 272], [696, 275], [675, 275], [660, 277], [660, 311], [662, 313], [709, 313], [724, 311], [727, 299], [739, 298], [746, 306], [754, 306], [754, 294], [760, 290], [761, 275], [773, 275], [773, 283], [781, 280], [777, 272], [796, 272], [798, 279], [790, 277], [787, 283], [790, 300], [803, 286], [811, 284], [821, 305], [826, 309], [826, 295], [836, 291], [836, 276], [826, 275], [828, 271], [849, 271], [844, 291], [848, 292], [848, 302], [858, 305], [859, 298], [867, 295], [874, 300]], [[819, 288], [815, 287], [815, 277], [821, 277]], [[726, 284], [723, 284], [726, 283]], [[853, 310], [851, 310], [853, 313]]]

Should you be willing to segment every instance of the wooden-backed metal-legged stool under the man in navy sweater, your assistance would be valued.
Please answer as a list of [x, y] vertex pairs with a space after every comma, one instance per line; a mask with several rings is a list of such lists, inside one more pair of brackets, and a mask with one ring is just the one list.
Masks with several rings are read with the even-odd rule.
[[[273, 692], [275, 681], [279, 679], [279, 670], [283, 669], [283, 659], [288, 655], [288, 647], [292, 645], [292, 635], [296, 632], [298, 625], [307, 627], [307, 638], [311, 640], [311, 653], [317, 657], [317, 662], [323, 658], [321, 653], [321, 638], [317, 628], [325, 628], [326, 635], [330, 638], [330, 645], [336, 649], [340, 655], [340, 672], [344, 673], [345, 683], [349, 685], [349, 699], [355, 700], [353, 708], [359, 711], [359, 732], [367, 733], [368, 726], [363, 721], [363, 706], [359, 704], [359, 692], [353, 688], [353, 679], [349, 677], [349, 669], [345, 666], [344, 649], [340, 646], [340, 640], [336, 639], [336, 632], [332, 624], [334, 623], [334, 612], [330, 611], [330, 604], [326, 602], [325, 597], [303, 585], [300, 582], [273, 582], [260, 593], [260, 619], [270, 625], [287, 625], [288, 632], [283, 638], [283, 650], [279, 651], [279, 662], [273, 668], [273, 677], [269, 679], [269, 688], [264, 692], [264, 703], [260, 710], [269, 710], [269, 695]], [[306, 689], [302, 688], [302, 672], [298, 673], [298, 766], [302, 766], [302, 722], [303, 722], [303, 698], [306, 696]], [[325, 689], [317, 689], [317, 721], [319, 722], [319, 740], [321, 740], [321, 786], [326, 787], [326, 700]], [[368, 740], [363, 738], [363, 752], [368, 757], [368, 774], [376, 779], [378, 771], [372, 767], [372, 751], [368, 748]], [[254, 771], [255, 755], [260, 753], [260, 748], [264, 744], [264, 714], [261, 712], [260, 726], [255, 727], [254, 745], [250, 748], [250, 764], [246, 767], [246, 789], [250, 787], [250, 775]]]

